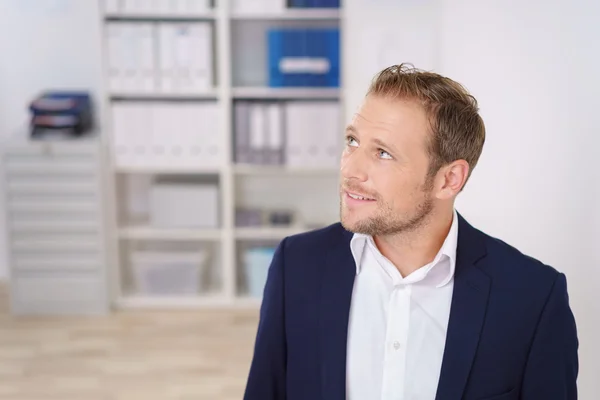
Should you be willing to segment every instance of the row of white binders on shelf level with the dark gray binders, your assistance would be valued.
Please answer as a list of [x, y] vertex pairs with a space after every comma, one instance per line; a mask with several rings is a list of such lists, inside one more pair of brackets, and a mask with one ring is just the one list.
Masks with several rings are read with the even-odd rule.
[[115, 163], [123, 168], [218, 168], [214, 102], [113, 102]]

